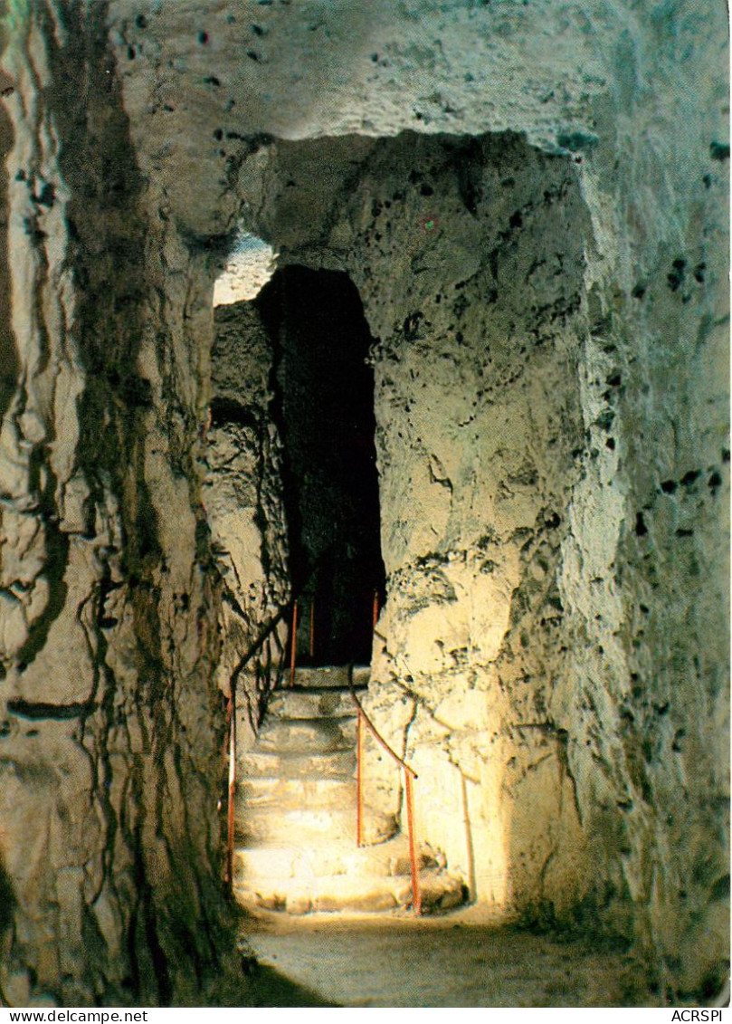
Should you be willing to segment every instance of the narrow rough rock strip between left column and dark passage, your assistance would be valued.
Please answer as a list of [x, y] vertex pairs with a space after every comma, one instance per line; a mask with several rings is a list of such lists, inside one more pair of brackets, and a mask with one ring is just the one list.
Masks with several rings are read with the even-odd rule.
[[203, 501], [223, 584], [216, 681], [228, 692], [233, 679], [241, 725], [252, 735], [287, 634], [283, 623], [248, 657], [290, 593], [282, 444], [270, 415], [271, 344], [256, 307], [218, 306], [214, 321]]

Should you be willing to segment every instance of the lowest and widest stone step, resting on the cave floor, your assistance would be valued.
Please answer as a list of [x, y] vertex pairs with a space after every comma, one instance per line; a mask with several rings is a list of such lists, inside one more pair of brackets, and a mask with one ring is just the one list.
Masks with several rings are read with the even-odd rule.
[[[464, 900], [461, 879], [446, 872], [420, 872], [423, 913], [460, 906]], [[260, 878], [256, 884], [234, 884], [238, 901], [250, 910], [279, 910], [291, 914], [310, 912], [379, 912], [412, 903], [412, 880], [405, 877], [360, 874], [290, 880]]]

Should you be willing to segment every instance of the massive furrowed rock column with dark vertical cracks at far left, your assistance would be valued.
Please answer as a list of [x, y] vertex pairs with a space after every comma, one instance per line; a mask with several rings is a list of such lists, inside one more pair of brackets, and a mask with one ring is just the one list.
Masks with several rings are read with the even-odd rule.
[[165, 1005], [231, 946], [196, 463], [210, 287], [145, 206], [105, 4], [14, 4], [4, 63], [0, 985]]

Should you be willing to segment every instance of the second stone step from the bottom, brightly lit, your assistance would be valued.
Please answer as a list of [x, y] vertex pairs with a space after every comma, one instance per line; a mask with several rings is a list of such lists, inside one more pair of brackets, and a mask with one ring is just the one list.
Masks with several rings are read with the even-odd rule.
[[[431, 850], [418, 853], [420, 870], [441, 868], [444, 858]], [[322, 843], [303, 849], [300, 846], [261, 846], [234, 851], [234, 881], [246, 888], [250, 880], [279, 878], [327, 878], [335, 874], [411, 874], [406, 837], [397, 836], [385, 843], [358, 849], [354, 843]]]

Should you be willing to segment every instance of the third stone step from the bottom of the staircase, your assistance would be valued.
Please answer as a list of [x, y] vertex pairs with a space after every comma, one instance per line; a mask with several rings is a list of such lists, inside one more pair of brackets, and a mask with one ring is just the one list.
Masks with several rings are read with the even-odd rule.
[[[352, 806], [337, 809], [245, 807], [238, 818], [238, 846], [286, 846], [297, 843], [305, 849], [310, 845], [321, 846], [326, 840], [331, 843], [355, 844], [355, 802]], [[368, 812], [367, 837], [370, 842], [391, 839], [395, 831], [396, 822], [391, 815]]]

